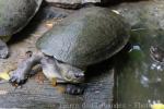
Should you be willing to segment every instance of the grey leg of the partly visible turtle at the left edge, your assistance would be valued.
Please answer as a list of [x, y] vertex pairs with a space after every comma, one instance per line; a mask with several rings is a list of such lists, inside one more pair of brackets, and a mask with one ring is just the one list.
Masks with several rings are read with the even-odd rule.
[[5, 59], [9, 56], [9, 48], [4, 41], [0, 39], [0, 59]]

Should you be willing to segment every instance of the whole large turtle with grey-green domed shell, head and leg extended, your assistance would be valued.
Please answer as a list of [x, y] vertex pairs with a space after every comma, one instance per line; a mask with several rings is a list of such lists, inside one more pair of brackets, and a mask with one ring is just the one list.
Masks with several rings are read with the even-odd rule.
[[77, 84], [84, 82], [86, 68], [120, 51], [129, 29], [124, 17], [107, 8], [80, 9], [38, 38], [38, 52], [17, 65], [10, 83], [23, 85], [32, 68], [40, 64], [49, 81], [68, 83], [72, 88], [67, 93], [81, 94]]

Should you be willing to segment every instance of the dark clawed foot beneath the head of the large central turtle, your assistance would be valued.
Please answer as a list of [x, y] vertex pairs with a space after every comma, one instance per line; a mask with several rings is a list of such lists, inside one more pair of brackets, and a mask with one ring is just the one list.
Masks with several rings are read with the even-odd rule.
[[84, 85], [72, 85], [68, 84], [66, 87], [66, 93], [70, 95], [82, 95], [84, 93]]

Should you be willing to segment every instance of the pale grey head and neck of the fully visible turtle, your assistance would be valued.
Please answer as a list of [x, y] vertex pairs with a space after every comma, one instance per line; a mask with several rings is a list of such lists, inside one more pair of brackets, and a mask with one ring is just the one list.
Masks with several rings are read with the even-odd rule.
[[61, 62], [51, 57], [45, 57], [40, 61], [43, 72], [50, 81], [57, 83], [82, 83], [84, 81], [84, 71]]

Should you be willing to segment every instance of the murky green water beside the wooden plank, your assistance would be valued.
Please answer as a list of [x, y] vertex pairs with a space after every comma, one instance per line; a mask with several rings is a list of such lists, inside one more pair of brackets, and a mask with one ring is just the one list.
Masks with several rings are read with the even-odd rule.
[[117, 109], [150, 109], [154, 101], [164, 104], [163, 35], [162, 29], [131, 31], [129, 49], [115, 58]]

